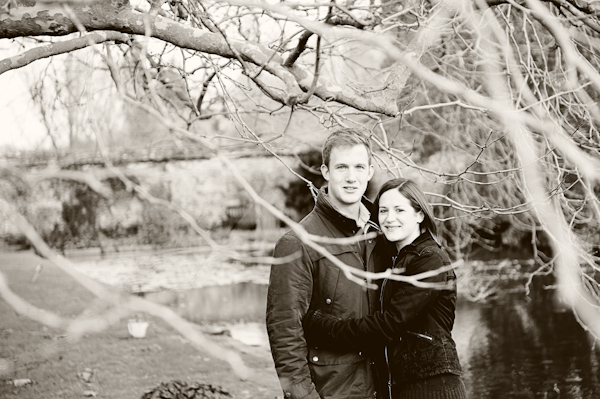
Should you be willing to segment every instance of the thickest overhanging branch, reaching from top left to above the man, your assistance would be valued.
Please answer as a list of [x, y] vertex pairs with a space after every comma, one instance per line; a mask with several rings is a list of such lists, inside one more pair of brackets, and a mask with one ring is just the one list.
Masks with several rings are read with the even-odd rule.
[[[264, 6], [264, 5], [262, 5]], [[37, 14], [35, 14], [37, 12]], [[257, 65], [277, 77], [285, 85], [286, 103], [297, 102], [310, 90], [313, 73], [298, 65], [284, 66], [283, 58], [275, 51], [258, 43], [240, 40], [226, 40], [222, 35], [193, 28], [179, 21], [160, 15], [149, 15], [131, 9], [116, 8], [111, 3], [96, 3], [90, 6], [71, 7], [73, 18], [78, 26], [87, 31], [111, 31], [115, 34], [150, 36], [171, 43], [174, 46], [213, 54], [229, 59], [240, 57], [243, 61]], [[31, 17], [31, 15], [34, 15]], [[329, 30], [326, 24], [310, 24], [316, 30]], [[52, 26], [52, 29], [49, 27]], [[70, 16], [61, 8], [51, 5], [37, 5], [35, 9], [20, 6], [13, 15], [0, 17], [0, 38], [28, 36], [66, 36], [78, 32]], [[381, 37], [378, 37], [378, 40]], [[48, 55], [49, 56], [49, 55]], [[44, 58], [44, 57], [39, 57]], [[39, 59], [38, 58], [38, 59]], [[321, 79], [315, 96], [323, 101], [335, 101], [365, 112], [394, 116], [395, 104], [378, 98], [365, 98], [364, 93], [356, 93], [347, 87], [338, 87]]]

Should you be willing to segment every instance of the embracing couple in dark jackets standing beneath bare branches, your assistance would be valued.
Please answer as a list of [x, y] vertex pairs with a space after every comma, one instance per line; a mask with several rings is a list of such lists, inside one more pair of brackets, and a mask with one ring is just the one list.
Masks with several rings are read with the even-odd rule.
[[[310, 234], [354, 237], [322, 242], [346, 265], [404, 275], [450, 264], [437, 242], [431, 206], [410, 180], [393, 179], [371, 204], [363, 194], [374, 173], [368, 139], [353, 129], [323, 145], [321, 188], [300, 224]], [[369, 232], [383, 232], [365, 239]], [[331, 260], [288, 232], [276, 244], [267, 296], [267, 332], [284, 397], [291, 399], [466, 398], [451, 331], [452, 270], [423, 281], [444, 290], [377, 280], [365, 289]]]

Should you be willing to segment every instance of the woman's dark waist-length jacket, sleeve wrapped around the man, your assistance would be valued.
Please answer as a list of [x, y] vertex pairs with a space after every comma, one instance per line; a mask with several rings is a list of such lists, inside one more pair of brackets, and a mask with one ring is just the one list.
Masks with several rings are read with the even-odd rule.
[[[450, 265], [447, 253], [429, 233], [397, 252], [383, 237], [371, 260], [376, 271], [394, 265], [404, 276], [432, 272]], [[388, 373], [389, 387], [435, 375], [462, 373], [452, 339], [456, 308], [456, 275], [453, 270], [421, 279], [448, 284], [446, 289], [420, 287], [409, 282], [385, 279], [381, 285], [381, 311], [362, 319], [335, 320], [326, 312], [305, 319], [307, 337], [321, 346], [356, 348], [379, 355], [378, 375]], [[385, 344], [385, 347], [382, 345]], [[389, 389], [379, 386], [380, 398]], [[392, 396], [393, 397], [393, 396]]]

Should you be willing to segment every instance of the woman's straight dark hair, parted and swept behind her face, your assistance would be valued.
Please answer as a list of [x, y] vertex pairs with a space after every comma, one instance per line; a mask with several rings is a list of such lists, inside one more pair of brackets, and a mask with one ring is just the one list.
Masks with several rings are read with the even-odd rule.
[[414, 181], [400, 177], [383, 183], [379, 189], [379, 193], [377, 193], [377, 198], [375, 198], [375, 209], [379, 211], [379, 199], [383, 193], [393, 189], [397, 189], [400, 194], [405, 196], [410, 201], [410, 204], [415, 212], [423, 212], [425, 217], [421, 222], [421, 234], [425, 231], [428, 231], [435, 242], [439, 244], [440, 240], [438, 237], [438, 227], [433, 216], [433, 209], [431, 208], [429, 201], [427, 201], [423, 191], [421, 191], [419, 186], [417, 186]]

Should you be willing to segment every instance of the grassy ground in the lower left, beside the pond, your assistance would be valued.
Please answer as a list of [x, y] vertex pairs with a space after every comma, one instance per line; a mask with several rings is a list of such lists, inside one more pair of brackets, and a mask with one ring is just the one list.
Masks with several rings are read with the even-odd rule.
[[[33, 283], [38, 264], [44, 268]], [[93, 312], [98, 304], [77, 282], [31, 252], [0, 253], [0, 272], [10, 288], [31, 304], [75, 317]], [[211, 336], [236, 349], [255, 370], [249, 380], [237, 378], [228, 364], [210, 359], [158, 319], [150, 319], [145, 338], [131, 338], [123, 320], [110, 329], [72, 342], [64, 331], [18, 315], [0, 299], [0, 398], [54, 399], [140, 398], [147, 389], [174, 379], [210, 383], [235, 398], [280, 397], [279, 383], [268, 350], [249, 347], [227, 336]], [[91, 369], [85, 382], [78, 374]], [[15, 379], [32, 384], [15, 386]]]

